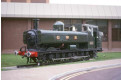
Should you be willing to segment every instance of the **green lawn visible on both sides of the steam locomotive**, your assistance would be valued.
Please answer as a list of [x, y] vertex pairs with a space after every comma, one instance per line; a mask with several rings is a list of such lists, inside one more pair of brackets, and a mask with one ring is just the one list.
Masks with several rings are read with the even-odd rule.
[[[98, 53], [97, 55], [98, 57], [93, 60], [70, 62], [70, 63], [63, 63], [63, 64], [83, 63], [83, 62], [92, 62], [92, 61], [101, 61], [101, 60], [110, 60], [110, 59], [121, 59], [121, 52]], [[21, 56], [15, 56], [13, 54], [1, 55], [1, 67], [17, 66], [17, 65], [26, 65], [26, 58], [22, 59]]]

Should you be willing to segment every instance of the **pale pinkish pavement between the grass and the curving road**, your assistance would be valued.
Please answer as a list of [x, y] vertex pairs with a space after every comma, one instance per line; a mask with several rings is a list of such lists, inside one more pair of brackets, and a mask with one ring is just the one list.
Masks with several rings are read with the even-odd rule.
[[1, 80], [48, 80], [68, 71], [112, 64], [121, 64], [121, 59], [2, 71]]

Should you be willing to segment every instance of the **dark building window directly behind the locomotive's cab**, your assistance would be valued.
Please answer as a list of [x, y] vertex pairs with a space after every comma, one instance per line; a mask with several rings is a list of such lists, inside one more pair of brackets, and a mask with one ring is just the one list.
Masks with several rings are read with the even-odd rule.
[[92, 24], [99, 26], [99, 31], [102, 31], [103, 41], [108, 41], [108, 21], [107, 20], [86, 20], [86, 24]]

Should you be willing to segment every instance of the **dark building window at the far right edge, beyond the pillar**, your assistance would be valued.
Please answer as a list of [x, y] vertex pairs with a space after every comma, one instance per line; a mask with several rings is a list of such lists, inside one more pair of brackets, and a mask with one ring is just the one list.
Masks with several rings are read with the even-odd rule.
[[112, 21], [112, 41], [121, 41], [121, 20]]

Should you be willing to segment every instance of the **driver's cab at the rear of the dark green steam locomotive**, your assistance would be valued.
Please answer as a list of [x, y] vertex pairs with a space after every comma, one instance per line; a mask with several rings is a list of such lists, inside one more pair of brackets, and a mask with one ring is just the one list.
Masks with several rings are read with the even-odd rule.
[[87, 32], [89, 34], [88, 48], [97, 48], [98, 50], [102, 50], [101, 41], [102, 41], [103, 32], [98, 30], [98, 26], [83, 24], [82, 32]]

